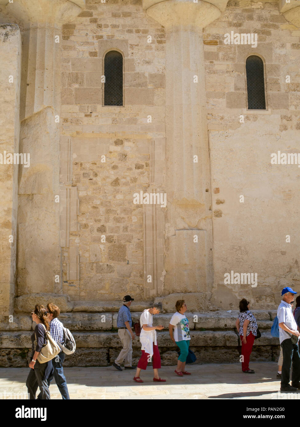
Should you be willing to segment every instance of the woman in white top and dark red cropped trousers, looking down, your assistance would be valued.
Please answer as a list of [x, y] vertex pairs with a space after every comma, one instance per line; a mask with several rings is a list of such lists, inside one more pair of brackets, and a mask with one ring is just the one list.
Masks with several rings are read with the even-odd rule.
[[158, 369], [160, 369], [160, 354], [156, 341], [156, 330], [162, 330], [163, 326], [152, 326], [152, 315], [158, 314], [161, 309], [161, 303], [153, 304], [151, 308], [144, 310], [140, 317], [141, 333], [140, 333], [140, 342], [142, 344], [142, 356], [137, 364], [137, 372], [134, 377], [134, 381], [137, 383], [143, 383], [144, 381], [140, 379], [141, 369], [146, 369], [148, 362], [152, 360], [152, 366], [154, 371], [153, 381], [165, 382], [158, 375]]

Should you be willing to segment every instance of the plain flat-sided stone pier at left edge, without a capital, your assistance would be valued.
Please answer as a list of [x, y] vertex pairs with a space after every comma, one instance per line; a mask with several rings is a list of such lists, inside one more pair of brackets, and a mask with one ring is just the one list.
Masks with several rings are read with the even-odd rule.
[[[21, 34], [18, 25], [0, 25], [0, 153], [18, 153], [20, 135]], [[6, 157], [6, 156], [5, 156]], [[0, 164], [0, 322], [9, 325], [15, 295], [18, 164]]]

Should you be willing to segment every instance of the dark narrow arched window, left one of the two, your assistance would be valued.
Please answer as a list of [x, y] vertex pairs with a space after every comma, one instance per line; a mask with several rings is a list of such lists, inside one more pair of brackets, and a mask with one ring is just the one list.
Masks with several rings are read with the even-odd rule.
[[104, 58], [104, 105], [123, 105], [123, 56], [116, 50]]

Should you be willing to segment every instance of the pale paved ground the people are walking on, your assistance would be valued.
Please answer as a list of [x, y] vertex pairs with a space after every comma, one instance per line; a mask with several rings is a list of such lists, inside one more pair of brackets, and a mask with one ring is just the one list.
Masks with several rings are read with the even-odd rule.
[[[150, 368], [150, 367], [149, 367]], [[175, 366], [163, 366], [154, 383], [152, 369], [142, 371], [143, 384], [134, 383], [135, 370], [119, 372], [104, 368], [65, 368], [71, 399], [287, 399], [298, 398], [278, 392], [277, 364], [253, 362], [255, 374], [243, 374], [240, 363], [190, 365], [190, 376], [178, 377]], [[0, 399], [27, 398], [25, 381], [29, 368], [0, 368]], [[61, 399], [55, 383], [51, 399]], [[299, 395], [300, 399], [300, 395]]]

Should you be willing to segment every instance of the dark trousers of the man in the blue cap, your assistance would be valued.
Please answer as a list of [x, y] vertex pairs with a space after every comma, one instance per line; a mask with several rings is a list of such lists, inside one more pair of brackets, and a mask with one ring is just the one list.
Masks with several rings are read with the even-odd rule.
[[287, 338], [280, 344], [282, 347], [283, 362], [281, 370], [281, 388], [290, 383], [290, 370], [292, 371], [292, 386], [298, 387], [300, 384], [300, 355], [298, 344], [293, 344], [291, 338]]

